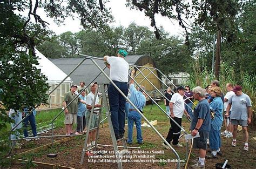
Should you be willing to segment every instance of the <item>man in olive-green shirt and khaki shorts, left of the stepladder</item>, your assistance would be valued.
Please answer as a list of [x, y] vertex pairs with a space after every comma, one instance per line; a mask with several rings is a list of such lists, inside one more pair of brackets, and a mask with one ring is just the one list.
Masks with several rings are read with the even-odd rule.
[[[66, 135], [72, 134], [72, 126], [73, 124], [77, 123], [77, 111], [78, 111], [78, 102], [86, 104], [84, 100], [77, 97], [75, 93], [77, 90], [77, 85], [72, 85], [69, 92], [66, 92], [64, 95], [63, 100], [63, 108], [67, 105], [68, 107], [65, 108], [65, 128], [66, 128]], [[77, 97], [77, 98], [76, 98]], [[75, 99], [76, 98], [76, 99]], [[75, 99], [75, 100], [73, 100]], [[72, 102], [73, 100], [73, 102]]]

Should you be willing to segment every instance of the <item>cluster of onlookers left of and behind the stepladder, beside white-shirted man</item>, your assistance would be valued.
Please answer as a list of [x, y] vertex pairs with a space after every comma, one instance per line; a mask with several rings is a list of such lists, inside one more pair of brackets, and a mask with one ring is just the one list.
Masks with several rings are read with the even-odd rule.
[[[89, 124], [91, 116], [91, 110], [93, 106], [93, 99], [96, 95], [96, 101], [94, 107], [100, 107], [99, 96], [96, 93], [97, 82], [90, 84], [91, 92], [88, 93], [85, 88], [85, 82], [80, 82], [80, 86], [71, 85], [69, 92], [65, 93], [63, 100], [63, 107], [65, 108], [65, 129], [66, 135], [70, 134], [83, 134], [85, 131], [86, 124]], [[78, 91], [77, 91], [78, 90]], [[80, 94], [79, 94], [79, 93]], [[88, 94], [86, 94], [88, 93]], [[79, 96], [77, 97], [77, 95]], [[90, 129], [98, 126], [99, 110], [95, 109], [92, 113]], [[77, 124], [76, 132], [72, 131], [72, 125]], [[96, 130], [89, 132], [89, 138], [87, 139], [87, 147], [95, 145], [96, 142]], [[90, 156], [86, 152], [87, 156]]]

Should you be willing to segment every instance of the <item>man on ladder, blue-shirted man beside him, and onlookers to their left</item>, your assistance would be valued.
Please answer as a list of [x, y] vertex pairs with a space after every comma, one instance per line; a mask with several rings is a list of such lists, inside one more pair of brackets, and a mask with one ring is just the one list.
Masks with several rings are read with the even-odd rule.
[[[120, 89], [125, 96], [127, 96], [129, 88], [130, 88], [130, 100], [131, 102], [142, 111], [143, 107], [146, 103], [145, 90], [144, 86], [136, 88], [134, 87], [134, 82], [131, 79], [130, 87], [127, 85], [128, 83], [128, 72], [129, 72], [129, 64], [126, 62], [125, 57], [127, 56], [127, 52], [125, 50], [120, 49], [118, 51], [117, 57], [109, 57], [105, 56], [104, 60], [106, 62], [107, 67], [110, 69], [110, 79]], [[117, 73], [118, 72], [118, 73]], [[131, 76], [134, 78], [135, 71], [133, 70]], [[84, 90], [84, 82], [80, 82], [80, 87], [78, 92], [80, 93]], [[132, 129], [133, 123], [136, 124], [137, 129], [137, 141], [138, 144], [143, 144], [142, 139], [142, 131], [141, 131], [141, 116], [134, 109], [133, 106], [128, 105], [129, 112], [127, 113], [127, 117], [125, 115], [125, 104], [126, 99], [122, 96], [121, 93], [118, 92], [116, 87], [112, 83], [109, 84], [108, 87], [108, 96], [109, 96], [109, 105], [110, 105], [110, 116], [113, 125], [114, 135], [116, 140], [124, 138], [124, 126], [125, 126], [125, 118], [128, 120], [128, 139], [127, 143], [132, 143]], [[66, 107], [65, 112], [65, 126], [66, 126], [66, 135], [73, 134], [72, 125], [77, 123], [77, 131], [75, 134], [82, 133], [85, 130], [86, 124], [89, 122], [89, 118], [92, 114], [90, 129], [93, 129], [98, 126], [99, 119], [99, 110], [95, 110], [91, 113], [93, 98], [95, 97], [95, 92], [97, 88], [97, 82], [92, 83], [90, 85], [91, 92], [89, 94], [85, 94], [83, 91], [78, 97], [78, 86], [72, 85], [71, 90], [65, 93], [63, 100], [63, 107]], [[141, 90], [143, 89], [143, 90]], [[75, 99], [76, 98], [76, 99]], [[75, 100], [73, 100], [75, 99]], [[73, 100], [73, 101], [72, 101]], [[72, 103], [71, 103], [72, 102]], [[68, 106], [67, 106], [68, 105]], [[100, 107], [99, 97], [96, 94], [96, 102], [94, 107]], [[84, 120], [85, 118], [85, 120]], [[87, 140], [87, 148], [95, 145], [96, 142], [96, 131], [91, 131], [89, 133], [89, 139]], [[87, 156], [90, 156], [90, 152], [86, 152]]]

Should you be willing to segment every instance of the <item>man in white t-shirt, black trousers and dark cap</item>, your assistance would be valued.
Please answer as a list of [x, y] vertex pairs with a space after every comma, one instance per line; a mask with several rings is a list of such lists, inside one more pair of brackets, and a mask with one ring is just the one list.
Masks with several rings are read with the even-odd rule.
[[[186, 116], [188, 118], [190, 118], [190, 115], [187, 113], [187, 111], [185, 110], [185, 106], [184, 106], [184, 99], [183, 99], [184, 93], [185, 93], [184, 86], [179, 86], [177, 88], [177, 93], [173, 94], [173, 96], [170, 100], [170, 103], [169, 103], [170, 112], [171, 112], [170, 116], [180, 126], [181, 126], [181, 119], [182, 119], [182, 116], [183, 116], [183, 112], [185, 112]], [[169, 144], [172, 141], [172, 145], [174, 147], [183, 147], [181, 144], [179, 144], [180, 134], [173, 134], [173, 133], [180, 132], [180, 128], [171, 119], [170, 119], [170, 123], [171, 123], [171, 127], [170, 127], [170, 130], [169, 130], [168, 135], [166, 137], [166, 141]], [[170, 150], [170, 147], [167, 146], [165, 143], [163, 143], [163, 146], [166, 149]]]

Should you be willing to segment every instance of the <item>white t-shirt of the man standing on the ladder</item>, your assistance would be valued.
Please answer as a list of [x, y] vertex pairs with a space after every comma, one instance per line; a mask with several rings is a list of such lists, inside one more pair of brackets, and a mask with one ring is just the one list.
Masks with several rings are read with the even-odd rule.
[[124, 58], [109, 56], [107, 62], [110, 64], [110, 79], [118, 82], [128, 82], [129, 64]]

